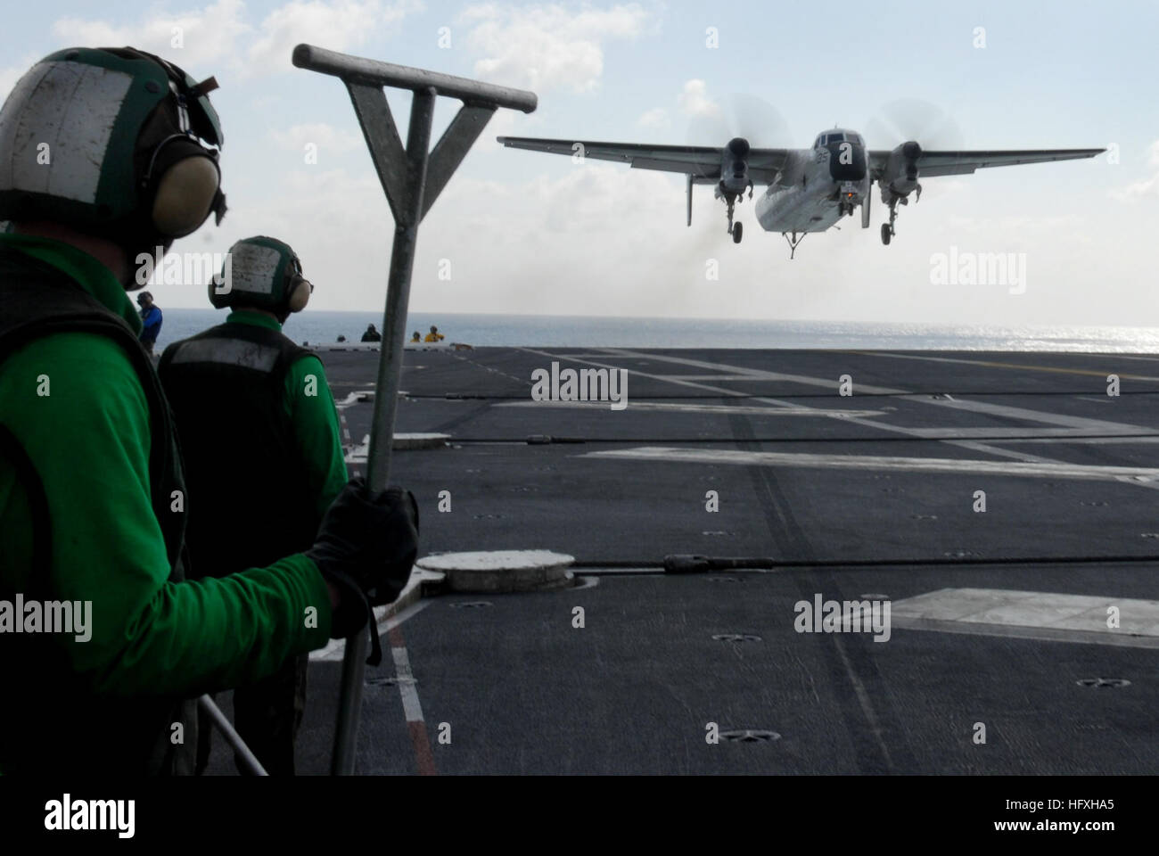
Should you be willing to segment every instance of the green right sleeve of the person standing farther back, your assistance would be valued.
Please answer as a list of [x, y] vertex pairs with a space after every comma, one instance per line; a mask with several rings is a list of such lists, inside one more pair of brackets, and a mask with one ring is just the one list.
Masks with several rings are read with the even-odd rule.
[[[314, 383], [308, 384], [308, 377]], [[316, 394], [307, 396], [307, 391]], [[326, 382], [322, 361], [313, 354], [300, 357], [286, 372], [285, 402], [293, 425], [298, 457], [306, 464], [306, 481], [315, 496], [319, 520], [347, 484], [347, 463], [334, 396]]]

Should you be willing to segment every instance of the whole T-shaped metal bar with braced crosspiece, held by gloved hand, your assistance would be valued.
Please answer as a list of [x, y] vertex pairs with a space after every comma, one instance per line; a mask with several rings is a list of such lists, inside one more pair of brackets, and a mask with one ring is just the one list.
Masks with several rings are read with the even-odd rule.
[[[391, 476], [391, 447], [394, 441], [394, 415], [402, 375], [410, 274], [415, 262], [418, 224], [495, 110], [509, 107], [531, 113], [535, 109], [538, 99], [534, 93], [522, 89], [508, 89], [423, 68], [350, 57], [308, 44], [294, 48], [293, 64], [300, 68], [333, 74], [347, 85], [374, 169], [394, 215], [394, 246], [386, 288], [382, 348], [379, 354], [369, 456], [370, 486], [374, 491], [381, 491]], [[406, 148], [399, 138], [399, 129], [382, 92], [384, 86], [413, 89], [415, 93], [410, 103]], [[464, 104], [431, 152], [431, 121], [437, 95], [460, 99]], [[347, 639], [342, 659], [342, 697], [334, 734], [334, 755], [330, 759], [330, 772], [334, 775], [349, 775], [353, 771], [365, 656], [365, 634]]]

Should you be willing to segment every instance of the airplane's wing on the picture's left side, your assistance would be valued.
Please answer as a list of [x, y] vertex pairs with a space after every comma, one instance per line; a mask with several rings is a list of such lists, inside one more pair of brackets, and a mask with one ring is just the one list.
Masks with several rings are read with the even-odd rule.
[[[647, 143], [596, 143], [582, 139], [541, 139], [539, 137], [497, 137], [508, 148], [526, 148], [568, 157], [611, 160], [627, 164], [634, 169], [658, 169], [681, 173], [698, 180], [715, 180], [721, 174], [723, 148], [714, 146], [661, 146]], [[583, 148], [580, 148], [583, 146]], [[788, 157], [787, 148], [750, 148], [746, 158], [749, 175], [758, 183], [768, 184], [780, 172]]]

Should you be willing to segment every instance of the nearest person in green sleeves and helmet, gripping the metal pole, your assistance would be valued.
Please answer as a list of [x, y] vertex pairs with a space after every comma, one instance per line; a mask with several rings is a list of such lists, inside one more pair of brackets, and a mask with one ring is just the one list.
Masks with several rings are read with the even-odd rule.
[[[191, 772], [198, 694], [366, 628], [410, 572], [413, 501], [356, 480], [305, 552], [185, 581], [198, 500], [125, 292], [138, 254], [225, 213], [216, 86], [130, 48], [66, 49], [0, 109], [0, 601], [53, 631], [0, 632], [2, 774]], [[260, 449], [248, 428], [212, 431]]]

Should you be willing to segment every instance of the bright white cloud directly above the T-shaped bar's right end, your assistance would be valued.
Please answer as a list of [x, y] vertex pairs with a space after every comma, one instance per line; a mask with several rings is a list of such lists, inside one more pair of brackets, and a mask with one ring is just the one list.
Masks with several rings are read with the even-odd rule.
[[649, 14], [636, 3], [571, 10], [560, 3], [475, 3], [457, 22], [471, 27], [468, 49], [482, 55], [475, 75], [533, 89], [592, 92], [604, 73], [603, 43], [635, 39]]

